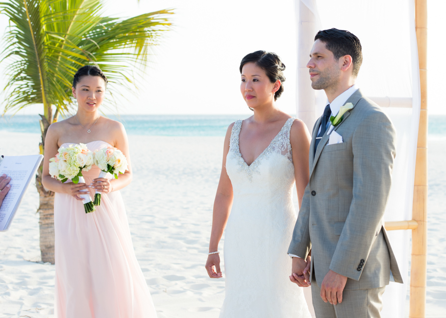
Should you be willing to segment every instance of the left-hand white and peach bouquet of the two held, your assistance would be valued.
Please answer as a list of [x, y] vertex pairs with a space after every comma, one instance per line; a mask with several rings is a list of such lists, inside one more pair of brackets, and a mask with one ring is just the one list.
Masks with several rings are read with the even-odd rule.
[[[73, 183], [85, 183], [82, 171], [88, 171], [93, 166], [93, 152], [87, 149], [87, 145], [75, 144], [68, 147], [60, 147], [56, 157], [50, 159], [50, 175], [61, 182], [71, 179]], [[88, 192], [88, 190], [82, 190]], [[81, 194], [85, 213], [95, 211], [90, 195]]]

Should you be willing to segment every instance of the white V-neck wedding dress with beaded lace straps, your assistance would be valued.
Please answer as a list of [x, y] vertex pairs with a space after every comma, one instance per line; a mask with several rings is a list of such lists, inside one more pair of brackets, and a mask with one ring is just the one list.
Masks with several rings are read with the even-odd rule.
[[226, 171], [234, 203], [224, 238], [226, 296], [220, 318], [311, 318], [302, 288], [289, 279], [287, 250], [297, 218], [293, 121], [286, 121], [249, 166], [239, 149], [242, 120], [232, 128]]

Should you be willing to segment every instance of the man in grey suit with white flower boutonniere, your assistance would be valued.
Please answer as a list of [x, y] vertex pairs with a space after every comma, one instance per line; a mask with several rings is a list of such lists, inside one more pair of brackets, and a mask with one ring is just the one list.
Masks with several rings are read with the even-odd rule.
[[318, 318], [380, 317], [385, 286], [402, 283], [382, 223], [396, 132], [355, 85], [361, 63], [359, 39], [333, 28], [318, 32], [307, 64], [328, 102], [313, 128], [310, 182], [288, 254], [291, 281], [311, 282]]

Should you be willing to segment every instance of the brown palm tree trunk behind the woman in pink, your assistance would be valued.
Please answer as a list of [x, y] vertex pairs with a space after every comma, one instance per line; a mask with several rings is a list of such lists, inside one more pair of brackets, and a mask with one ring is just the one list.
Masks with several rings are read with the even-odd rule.
[[[51, 108], [48, 110], [48, 118], [40, 115], [40, 128], [42, 133], [42, 142], [39, 144], [40, 153], [44, 154], [45, 137], [48, 127], [53, 122], [51, 118]], [[51, 122], [51, 123], [50, 123]], [[39, 209], [39, 230], [40, 230], [40, 254], [42, 262], [54, 264], [54, 192], [45, 189], [42, 184], [43, 161], [37, 170], [36, 187], [40, 195]]]

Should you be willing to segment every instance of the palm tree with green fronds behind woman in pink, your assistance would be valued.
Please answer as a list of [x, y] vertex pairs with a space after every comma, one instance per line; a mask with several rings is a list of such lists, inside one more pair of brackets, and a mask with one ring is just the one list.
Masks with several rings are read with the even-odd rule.
[[[135, 76], [144, 73], [151, 46], [170, 29], [168, 15], [173, 13], [161, 10], [120, 19], [105, 17], [102, 11], [101, 0], [0, 2], [10, 25], [0, 60], [7, 79], [4, 113], [42, 104], [41, 154], [50, 124], [74, 107], [71, 87], [76, 70], [98, 65], [109, 79], [110, 95], [122, 95], [123, 89], [135, 86]], [[115, 103], [113, 97], [109, 102]], [[54, 193], [41, 180], [42, 166], [36, 176], [40, 249], [42, 261], [54, 264]]]

